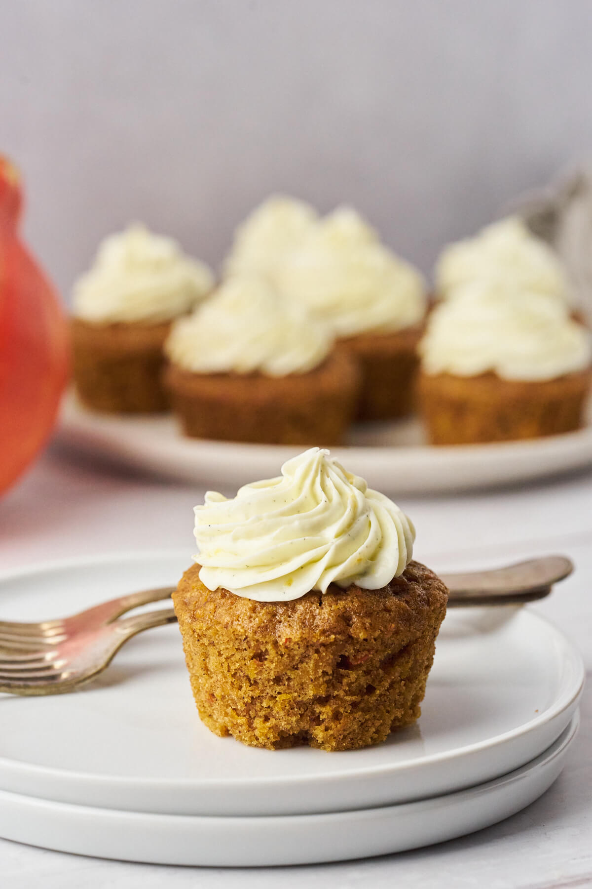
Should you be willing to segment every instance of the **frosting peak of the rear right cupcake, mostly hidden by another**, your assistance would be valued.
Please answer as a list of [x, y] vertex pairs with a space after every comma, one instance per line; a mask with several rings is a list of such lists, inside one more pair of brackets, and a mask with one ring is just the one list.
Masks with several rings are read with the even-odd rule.
[[571, 293], [563, 265], [548, 244], [533, 236], [525, 222], [510, 216], [477, 236], [450, 244], [436, 265], [436, 290], [444, 299], [463, 284], [495, 281], [513, 288], [547, 293], [569, 303]]

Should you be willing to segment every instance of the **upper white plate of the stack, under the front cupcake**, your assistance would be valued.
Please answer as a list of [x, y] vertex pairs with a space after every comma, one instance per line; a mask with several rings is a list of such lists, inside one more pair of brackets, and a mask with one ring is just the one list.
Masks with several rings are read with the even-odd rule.
[[[188, 554], [73, 561], [0, 578], [0, 618], [43, 620], [173, 584]], [[524, 765], [564, 730], [584, 669], [520, 608], [454, 610], [417, 725], [374, 748], [261, 750], [218, 738], [193, 705], [176, 626], [130, 641], [79, 693], [1, 701], [0, 789], [178, 815], [293, 815], [391, 805]]]

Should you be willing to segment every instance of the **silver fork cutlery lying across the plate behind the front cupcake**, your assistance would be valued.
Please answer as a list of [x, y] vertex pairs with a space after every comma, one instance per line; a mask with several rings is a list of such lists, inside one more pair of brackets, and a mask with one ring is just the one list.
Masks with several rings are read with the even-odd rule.
[[[549, 596], [553, 584], [572, 570], [568, 558], [547, 556], [441, 577], [450, 591], [450, 606], [516, 605]], [[138, 605], [169, 598], [174, 589], [145, 589], [59, 621], [0, 621], [0, 693], [72, 692], [106, 669], [132, 636], [177, 620], [172, 608], [118, 620]]]

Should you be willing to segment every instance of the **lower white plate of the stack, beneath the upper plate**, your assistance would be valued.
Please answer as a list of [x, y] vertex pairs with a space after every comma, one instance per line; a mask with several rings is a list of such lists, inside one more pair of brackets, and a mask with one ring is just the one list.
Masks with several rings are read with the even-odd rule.
[[97, 809], [0, 791], [0, 836], [99, 858], [209, 867], [314, 864], [403, 852], [473, 833], [533, 803], [561, 772], [578, 724], [576, 714], [548, 750], [515, 772], [405, 805], [207, 818]]

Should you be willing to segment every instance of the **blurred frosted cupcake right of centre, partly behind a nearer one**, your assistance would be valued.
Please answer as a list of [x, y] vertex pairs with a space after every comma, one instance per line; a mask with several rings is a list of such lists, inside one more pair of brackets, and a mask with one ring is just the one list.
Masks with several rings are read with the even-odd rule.
[[359, 361], [360, 419], [391, 420], [411, 411], [425, 284], [358, 213], [342, 208], [312, 227], [281, 263], [278, 286], [328, 324]]

